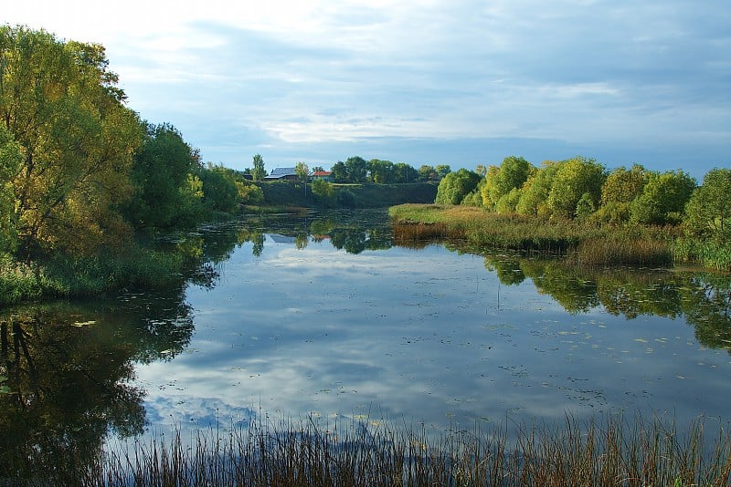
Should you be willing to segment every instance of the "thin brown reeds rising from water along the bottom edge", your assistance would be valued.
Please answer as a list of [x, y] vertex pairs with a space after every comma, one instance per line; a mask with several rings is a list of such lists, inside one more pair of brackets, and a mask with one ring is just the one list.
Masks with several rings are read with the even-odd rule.
[[302, 420], [198, 430], [189, 440], [173, 430], [169, 439], [109, 445], [98, 459], [64, 468], [72, 471], [51, 469], [26, 484], [724, 486], [731, 437], [710, 419], [678, 430], [660, 419], [567, 416], [562, 425], [452, 429], [437, 439], [382, 421]]

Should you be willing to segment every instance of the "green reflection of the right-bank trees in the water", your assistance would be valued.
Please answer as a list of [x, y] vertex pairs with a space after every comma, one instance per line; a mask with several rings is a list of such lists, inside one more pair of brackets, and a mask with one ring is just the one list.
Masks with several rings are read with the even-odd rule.
[[490, 255], [485, 268], [503, 285], [530, 278], [569, 313], [602, 306], [615, 316], [683, 316], [705, 347], [731, 352], [731, 278], [707, 272], [662, 269], [578, 268], [556, 259]]

